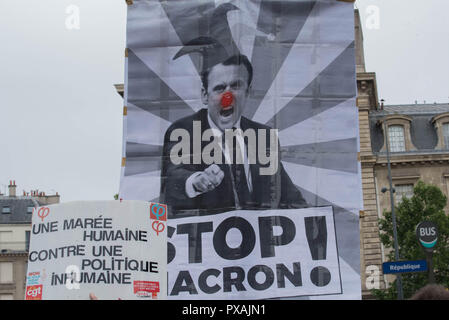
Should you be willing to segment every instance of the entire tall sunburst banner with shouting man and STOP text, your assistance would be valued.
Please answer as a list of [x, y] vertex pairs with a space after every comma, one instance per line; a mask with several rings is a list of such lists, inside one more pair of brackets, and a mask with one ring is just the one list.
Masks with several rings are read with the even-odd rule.
[[128, 4], [119, 196], [168, 206], [169, 299], [361, 298], [354, 28], [335, 0]]

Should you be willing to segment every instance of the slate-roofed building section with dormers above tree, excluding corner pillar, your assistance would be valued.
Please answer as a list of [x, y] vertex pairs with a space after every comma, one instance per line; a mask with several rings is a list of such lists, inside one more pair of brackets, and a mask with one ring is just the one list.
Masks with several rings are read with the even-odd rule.
[[[374, 187], [379, 217], [391, 210], [385, 139], [390, 145], [394, 201], [413, 195], [422, 180], [449, 196], [449, 104], [380, 106], [369, 114]], [[388, 134], [385, 132], [388, 130]], [[445, 208], [448, 213], [448, 207]], [[385, 258], [386, 249], [383, 249]], [[394, 276], [385, 277], [386, 284]]]

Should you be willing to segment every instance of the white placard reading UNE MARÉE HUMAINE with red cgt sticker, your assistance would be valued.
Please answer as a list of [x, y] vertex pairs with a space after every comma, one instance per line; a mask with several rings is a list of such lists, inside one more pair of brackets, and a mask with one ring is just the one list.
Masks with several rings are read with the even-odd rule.
[[143, 201], [35, 208], [25, 299], [165, 299], [166, 218]]

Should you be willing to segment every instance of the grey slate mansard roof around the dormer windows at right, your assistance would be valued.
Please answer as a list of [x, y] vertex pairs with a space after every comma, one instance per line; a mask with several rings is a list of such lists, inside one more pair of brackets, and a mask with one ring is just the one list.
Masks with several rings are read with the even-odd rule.
[[449, 104], [447, 103], [386, 105], [383, 110], [371, 111], [369, 118], [373, 152], [379, 152], [384, 143], [383, 130], [378, 125], [378, 121], [392, 114], [407, 115], [412, 119], [410, 135], [413, 145], [418, 149], [414, 153], [435, 152], [438, 135], [432, 124], [432, 118], [437, 114], [446, 112], [449, 112]]

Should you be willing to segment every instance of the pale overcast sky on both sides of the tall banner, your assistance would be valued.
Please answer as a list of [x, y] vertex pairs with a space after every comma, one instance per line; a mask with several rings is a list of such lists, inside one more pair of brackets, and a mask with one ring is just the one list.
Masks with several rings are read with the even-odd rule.
[[[80, 10], [79, 29], [67, 28], [71, 5]], [[379, 98], [448, 103], [449, 2], [357, 0], [356, 7]], [[13, 179], [19, 194], [113, 199], [123, 133], [113, 84], [124, 81], [125, 28], [124, 0], [0, 2], [0, 192]]]

